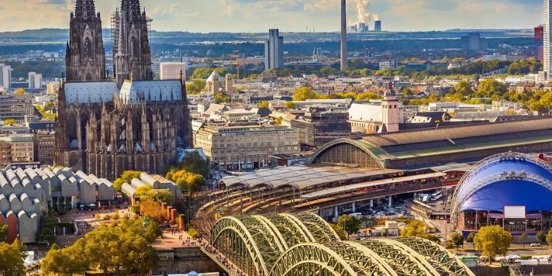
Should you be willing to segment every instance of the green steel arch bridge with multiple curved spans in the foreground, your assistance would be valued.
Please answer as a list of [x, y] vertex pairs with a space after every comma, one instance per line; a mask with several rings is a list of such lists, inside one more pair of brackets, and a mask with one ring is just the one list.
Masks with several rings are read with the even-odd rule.
[[211, 229], [210, 245], [251, 276], [474, 275], [426, 239], [345, 242], [313, 213], [224, 217]]

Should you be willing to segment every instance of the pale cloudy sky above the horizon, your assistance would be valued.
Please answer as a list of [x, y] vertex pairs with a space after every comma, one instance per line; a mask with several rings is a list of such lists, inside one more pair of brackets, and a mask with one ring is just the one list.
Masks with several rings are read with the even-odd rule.
[[[120, 0], [95, 0], [103, 28]], [[348, 0], [348, 21], [357, 20], [357, 4]], [[453, 28], [533, 28], [542, 22], [543, 0], [370, 0], [363, 9], [375, 14], [384, 30]], [[333, 32], [339, 30], [339, 0], [141, 0], [152, 29], [188, 32]], [[68, 28], [75, 0], [0, 0], [0, 32]], [[373, 21], [369, 23], [373, 28]]]

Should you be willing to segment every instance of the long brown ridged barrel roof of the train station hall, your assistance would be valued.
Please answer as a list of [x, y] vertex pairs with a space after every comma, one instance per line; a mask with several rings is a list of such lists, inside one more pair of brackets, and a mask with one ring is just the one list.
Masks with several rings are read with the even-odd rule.
[[552, 117], [407, 130], [368, 135], [355, 141], [378, 159], [425, 157], [552, 142]]

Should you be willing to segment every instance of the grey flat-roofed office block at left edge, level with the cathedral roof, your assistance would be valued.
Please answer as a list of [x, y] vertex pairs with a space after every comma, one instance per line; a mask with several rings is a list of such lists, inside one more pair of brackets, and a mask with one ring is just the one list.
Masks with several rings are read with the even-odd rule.
[[32, 95], [3, 95], [0, 96], [0, 121], [14, 119], [19, 124], [25, 122], [26, 117], [34, 116]]

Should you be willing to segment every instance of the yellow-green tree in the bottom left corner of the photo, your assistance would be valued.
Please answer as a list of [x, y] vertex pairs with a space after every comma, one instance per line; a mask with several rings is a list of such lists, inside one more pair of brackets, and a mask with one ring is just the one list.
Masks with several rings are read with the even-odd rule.
[[27, 250], [18, 239], [13, 244], [0, 243], [0, 275], [23, 276]]

